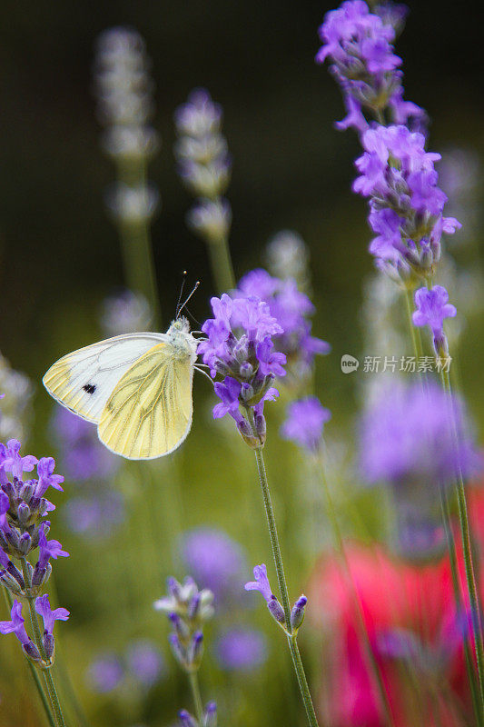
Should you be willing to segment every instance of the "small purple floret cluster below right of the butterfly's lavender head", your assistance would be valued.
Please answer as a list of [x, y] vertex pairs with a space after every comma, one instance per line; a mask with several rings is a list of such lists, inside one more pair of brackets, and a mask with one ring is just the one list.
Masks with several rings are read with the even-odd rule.
[[316, 396], [308, 396], [289, 404], [281, 436], [315, 453], [321, 444], [324, 424], [330, 419], [330, 410]]

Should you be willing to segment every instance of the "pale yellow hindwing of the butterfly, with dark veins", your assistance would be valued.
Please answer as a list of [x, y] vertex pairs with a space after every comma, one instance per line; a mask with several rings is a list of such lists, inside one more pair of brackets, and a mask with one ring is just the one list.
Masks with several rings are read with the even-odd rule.
[[161, 343], [124, 373], [99, 422], [106, 447], [128, 459], [173, 452], [192, 426], [193, 357], [175, 355]]

